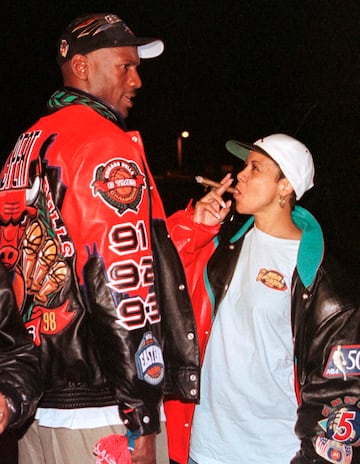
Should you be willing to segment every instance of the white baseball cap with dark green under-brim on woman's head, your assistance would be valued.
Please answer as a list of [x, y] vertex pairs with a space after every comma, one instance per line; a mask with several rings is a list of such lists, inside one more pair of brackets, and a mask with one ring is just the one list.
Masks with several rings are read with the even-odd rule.
[[253, 144], [229, 140], [225, 147], [231, 154], [244, 161], [250, 151], [270, 156], [292, 185], [297, 200], [314, 185], [315, 169], [312, 155], [303, 143], [289, 135], [273, 134]]

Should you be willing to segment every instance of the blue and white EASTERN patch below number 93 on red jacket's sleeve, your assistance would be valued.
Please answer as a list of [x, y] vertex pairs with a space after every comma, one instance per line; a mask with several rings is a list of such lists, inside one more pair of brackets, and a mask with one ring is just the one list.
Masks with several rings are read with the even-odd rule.
[[160, 345], [151, 332], [144, 334], [135, 361], [139, 379], [159, 385], [164, 378], [164, 360]]

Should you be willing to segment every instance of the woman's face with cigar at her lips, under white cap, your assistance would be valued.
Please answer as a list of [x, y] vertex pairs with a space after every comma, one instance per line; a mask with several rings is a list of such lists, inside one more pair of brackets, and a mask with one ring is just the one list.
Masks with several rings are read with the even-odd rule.
[[251, 151], [245, 167], [237, 175], [234, 194], [236, 211], [240, 214], [257, 215], [270, 213], [279, 208], [279, 196], [283, 182], [279, 181], [280, 169], [267, 156]]

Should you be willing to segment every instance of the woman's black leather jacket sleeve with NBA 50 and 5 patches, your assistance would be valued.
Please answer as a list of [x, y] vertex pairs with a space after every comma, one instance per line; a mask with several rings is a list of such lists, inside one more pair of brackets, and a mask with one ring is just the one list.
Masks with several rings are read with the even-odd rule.
[[296, 432], [302, 450], [292, 464], [327, 462], [316, 448], [360, 462], [360, 313], [352, 293], [344, 271], [327, 259], [314, 285], [295, 295], [307, 304], [302, 303], [295, 334], [301, 391]]

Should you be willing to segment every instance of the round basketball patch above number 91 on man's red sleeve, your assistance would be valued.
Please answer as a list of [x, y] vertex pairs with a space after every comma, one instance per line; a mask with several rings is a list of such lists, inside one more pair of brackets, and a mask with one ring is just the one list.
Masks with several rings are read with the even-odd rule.
[[95, 169], [93, 195], [99, 195], [120, 216], [127, 210], [137, 212], [145, 188], [144, 177], [136, 163], [112, 159]]

